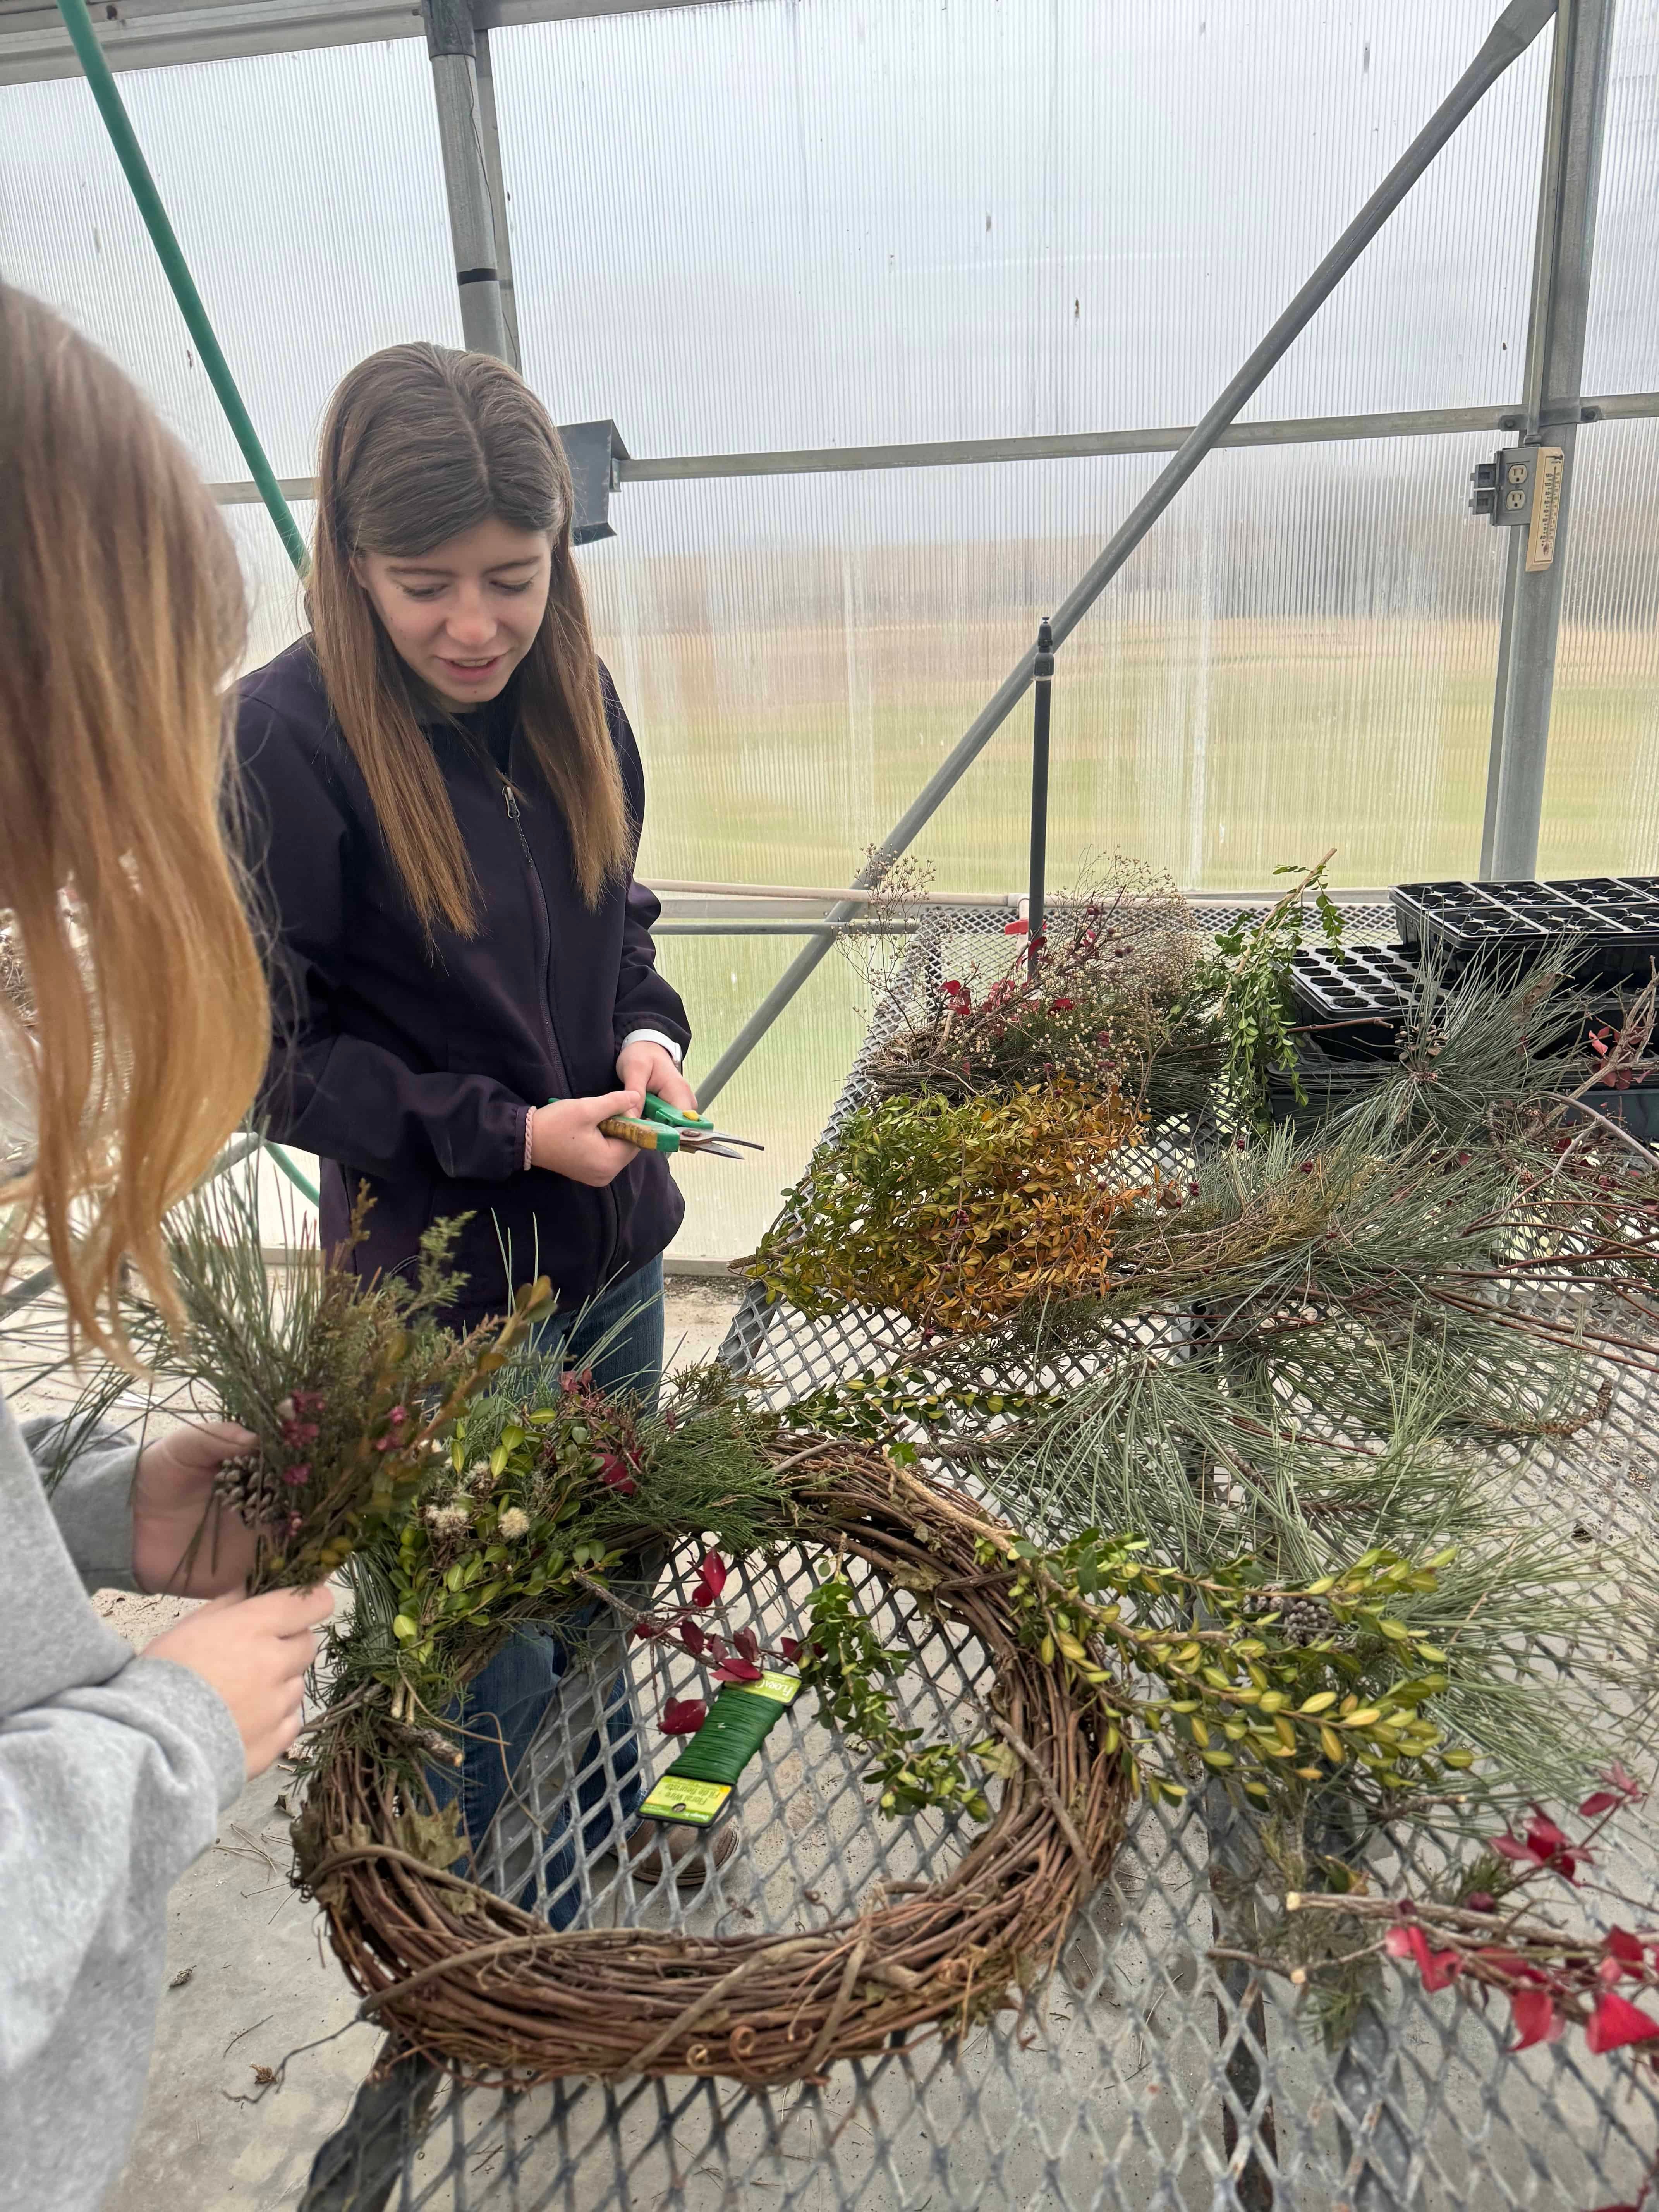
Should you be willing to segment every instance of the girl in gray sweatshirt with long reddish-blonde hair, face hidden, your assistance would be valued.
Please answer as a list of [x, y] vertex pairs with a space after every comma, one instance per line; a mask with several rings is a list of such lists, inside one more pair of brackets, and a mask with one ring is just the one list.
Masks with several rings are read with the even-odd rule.
[[[234, 551], [184, 451], [108, 361], [0, 285], [0, 1097], [27, 1106], [0, 1285], [44, 1241], [71, 1334], [115, 1358], [122, 1263], [177, 1312], [161, 1214], [265, 1055], [221, 845], [239, 648]], [[49, 1498], [49, 1429], [0, 1400], [0, 2205], [80, 2212], [144, 2095], [168, 1887], [294, 1741], [330, 1599], [239, 1597], [239, 1524], [192, 1546], [246, 1431], [93, 1438]], [[135, 1659], [93, 1588], [217, 1601]]]

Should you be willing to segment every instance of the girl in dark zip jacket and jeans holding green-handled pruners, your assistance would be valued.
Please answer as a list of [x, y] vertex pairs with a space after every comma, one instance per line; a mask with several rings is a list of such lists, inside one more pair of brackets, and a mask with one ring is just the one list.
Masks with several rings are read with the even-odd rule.
[[[323, 1243], [407, 1267], [469, 1217], [453, 1318], [551, 1276], [542, 1349], [655, 1402], [666, 1161], [602, 1135], [646, 1091], [695, 1106], [690, 1026], [633, 880], [644, 774], [588, 630], [571, 471], [513, 369], [394, 345], [323, 425], [312, 630], [243, 686], [250, 865], [276, 938], [263, 1110], [321, 1155]], [[473, 1688], [473, 1843], [566, 1668], [520, 1637]], [[493, 1739], [493, 1741], [487, 1741]], [[588, 1847], [637, 1801], [626, 1699], [580, 1792]], [[606, 1772], [608, 1770], [608, 1772]], [[730, 1849], [730, 1845], [728, 1845]], [[551, 1840], [553, 1918], [575, 1867]]]

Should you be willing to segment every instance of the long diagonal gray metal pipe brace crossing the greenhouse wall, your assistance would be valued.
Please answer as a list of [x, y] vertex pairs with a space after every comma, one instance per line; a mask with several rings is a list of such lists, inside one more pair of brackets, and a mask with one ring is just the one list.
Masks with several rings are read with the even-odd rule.
[[[1130, 557], [1135, 546], [1146, 538], [1157, 518], [1186, 484], [1192, 471], [1199, 467], [1210, 447], [1221, 438], [1221, 431], [1232, 422], [1245, 400], [1256, 392], [1270, 369], [1290, 352], [1292, 343], [1312, 323], [1325, 301], [1332, 296], [1336, 285], [1347, 276], [1358, 257], [1378, 234], [1383, 223], [1394, 215], [1405, 195], [1418, 181], [1418, 177], [1429, 168], [1433, 157], [1453, 137], [1464, 117], [1480, 104], [1480, 100], [1498, 84], [1506, 69], [1511, 69], [1522, 53], [1533, 44], [1537, 33], [1555, 13], [1555, 0], [1509, 0], [1509, 7], [1491, 27], [1482, 40], [1480, 53], [1464, 69], [1462, 77], [1453, 84], [1440, 106], [1433, 111], [1429, 122], [1418, 131], [1407, 150], [1387, 173], [1383, 184], [1371, 192], [1360, 212], [1340, 234], [1336, 246], [1325, 254], [1314, 274], [1292, 299], [1279, 321], [1272, 325], [1261, 345], [1250, 354], [1245, 365], [1232, 378], [1232, 383], [1221, 392], [1217, 403], [1203, 416], [1201, 422], [1192, 427], [1179, 453], [1175, 453], [1166, 467], [1157, 473], [1148, 491], [1130, 509], [1128, 518], [1113, 533], [1108, 544], [1102, 549], [1099, 557], [1084, 571], [1071, 595], [1060, 606], [1053, 617], [1053, 637], [1062, 646], [1071, 633], [1077, 628], [1082, 617], [1095, 604], [1095, 599], [1106, 591], [1110, 580]], [[885, 843], [872, 854], [867, 865], [858, 874], [858, 889], [878, 883], [887, 867], [907, 849], [927, 821], [936, 814], [940, 801], [956, 790], [960, 779], [967, 774], [971, 763], [984, 750], [989, 739], [1002, 728], [1009, 712], [1022, 699], [1026, 686], [1035, 675], [1035, 657], [1026, 655], [1015, 668], [1009, 670], [1000, 684], [995, 697], [975, 714], [973, 723], [960, 737], [956, 750], [940, 768], [927, 779], [927, 785], [918, 792], [914, 805], [894, 825]], [[818, 967], [823, 956], [834, 945], [834, 933], [849, 918], [849, 907], [834, 907], [825, 916], [823, 936], [812, 945], [803, 947], [790, 967], [779, 975], [772, 989], [765, 993], [761, 1004], [748, 1018], [743, 1029], [732, 1037], [721, 1057], [714, 1062], [710, 1073], [699, 1084], [699, 1097], [710, 1104], [726, 1084], [732, 1079], [737, 1068], [748, 1060], [761, 1037], [768, 1033], [772, 1022], [783, 1013], [794, 993], [807, 980], [807, 975]]]

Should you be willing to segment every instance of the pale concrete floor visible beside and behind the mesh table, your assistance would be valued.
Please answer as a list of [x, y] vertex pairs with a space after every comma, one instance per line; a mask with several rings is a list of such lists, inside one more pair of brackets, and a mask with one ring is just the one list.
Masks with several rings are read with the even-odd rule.
[[[737, 1287], [670, 1279], [670, 1365], [706, 1358], [734, 1305]], [[115, 1590], [97, 1608], [139, 1648], [188, 1610]], [[378, 2031], [352, 2024], [316, 1913], [288, 1887], [290, 1792], [285, 1765], [250, 1783], [173, 1891], [144, 2117], [106, 2212], [288, 2212], [378, 2051]], [[241, 2101], [294, 2051], [281, 2088]]]

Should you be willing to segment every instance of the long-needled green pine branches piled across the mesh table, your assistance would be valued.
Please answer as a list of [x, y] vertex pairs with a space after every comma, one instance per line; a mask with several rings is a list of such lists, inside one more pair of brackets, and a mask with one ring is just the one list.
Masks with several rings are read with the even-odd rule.
[[[1436, 1721], [1475, 1765], [1425, 1818], [1571, 1794], [1652, 1739], [1659, 1659], [1652, 1562], [1528, 1475], [1595, 1449], [1621, 1369], [1659, 1371], [1659, 1161], [1582, 1117], [1584, 1037], [1559, 971], [1429, 978], [1363, 1108], [1159, 1175], [1113, 1219], [1104, 1290], [900, 1340], [792, 1418], [969, 1469], [1044, 1542], [1148, 1533], [1181, 1575], [1307, 1590], [1376, 1548], [1433, 1559], [1396, 1610], [1447, 1650]], [[790, 1294], [827, 1305], [834, 1272], [880, 1303], [856, 1254], [807, 1230]], [[1334, 1787], [1349, 1825], [1400, 1814], [1363, 1765], [1310, 1803]]]

